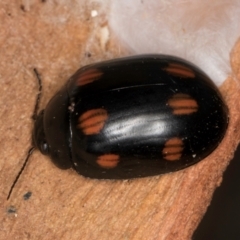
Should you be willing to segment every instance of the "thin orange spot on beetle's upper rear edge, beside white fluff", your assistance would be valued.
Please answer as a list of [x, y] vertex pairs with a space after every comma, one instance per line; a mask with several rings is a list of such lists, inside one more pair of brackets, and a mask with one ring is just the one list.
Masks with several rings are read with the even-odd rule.
[[178, 63], [170, 63], [166, 68], [163, 68], [163, 70], [177, 77], [183, 78], [195, 77], [195, 73], [193, 72], [192, 69]]

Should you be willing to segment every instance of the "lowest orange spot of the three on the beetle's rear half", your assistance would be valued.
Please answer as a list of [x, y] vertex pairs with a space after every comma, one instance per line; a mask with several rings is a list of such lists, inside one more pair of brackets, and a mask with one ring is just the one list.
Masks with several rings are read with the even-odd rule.
[[181, 138], [169, 139], [162, 150], [163, 158], [168, 161], [180, 160], [184, 144]]

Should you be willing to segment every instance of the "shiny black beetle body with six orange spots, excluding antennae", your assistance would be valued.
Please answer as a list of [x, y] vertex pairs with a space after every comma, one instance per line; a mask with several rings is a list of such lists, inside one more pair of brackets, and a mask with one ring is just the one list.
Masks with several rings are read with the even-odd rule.
[[128, 179], [199, 162], [227, 125], [227, 107], [199, 68], [143, 55], [79, 69], [39, 113], [33, 142], [59, 168]]

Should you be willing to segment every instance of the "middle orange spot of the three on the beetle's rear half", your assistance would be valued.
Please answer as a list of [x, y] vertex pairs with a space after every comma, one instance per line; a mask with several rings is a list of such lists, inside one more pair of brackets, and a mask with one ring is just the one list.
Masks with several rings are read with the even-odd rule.
[[188, 94], [177, 93], [173, 95], [167, 102], [167, 105], [173, 109], [175, 115], [192, 114], [198, 111], [198, 104]]

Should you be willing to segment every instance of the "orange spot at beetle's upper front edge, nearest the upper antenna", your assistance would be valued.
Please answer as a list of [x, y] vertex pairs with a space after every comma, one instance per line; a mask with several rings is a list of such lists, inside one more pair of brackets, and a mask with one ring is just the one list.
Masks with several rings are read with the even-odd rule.
[[96, 68], [90, 68], [87, 69], [86, 71], [82, 72], [78, 76], [78, 80], [76, 82], [77, 86], [83, 86], [88, 83], [91, 83], [97, 79], [99, 79], [103, 75], [103, 72]]

